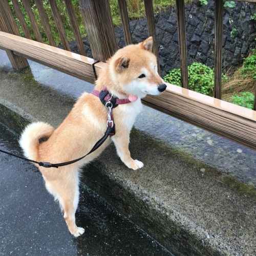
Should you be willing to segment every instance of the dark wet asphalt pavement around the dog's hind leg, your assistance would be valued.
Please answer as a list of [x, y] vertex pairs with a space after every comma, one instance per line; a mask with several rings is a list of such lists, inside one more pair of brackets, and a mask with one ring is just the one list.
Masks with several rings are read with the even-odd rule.
[[[20, 154], [1, 124], [0, 148]], [[0, 170], [0, 255], [172, 255], [84, 185], [74, 238], [35, 166], [0, 153]]]

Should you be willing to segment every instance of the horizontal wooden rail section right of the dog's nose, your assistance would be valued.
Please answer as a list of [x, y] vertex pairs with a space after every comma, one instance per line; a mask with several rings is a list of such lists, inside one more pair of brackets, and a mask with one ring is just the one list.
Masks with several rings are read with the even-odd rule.
[[143, 103], [256, 150], [256, 111], [172, 84]]

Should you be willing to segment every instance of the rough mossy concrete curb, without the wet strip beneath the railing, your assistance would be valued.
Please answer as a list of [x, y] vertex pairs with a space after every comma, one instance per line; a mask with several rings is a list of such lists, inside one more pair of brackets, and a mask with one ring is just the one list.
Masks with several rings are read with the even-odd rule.
[[[9, 79], [17, 82], [16, 76]], [[0, 83], [0, 122], [16, 133], [37, 119], [50, 117], [50, 123], [57, 125], [73, 104], [69, 97], [65, 101], [65, 95], [49, 88], [37, 88], [40, 90], [28, 99], [28, 93], [21, 92], [34, 90], [29, 81], [14, 86], [19, 90], [8, 94], [9, 89], [5, 93], [5, 85]], [[41, 90], [44, 98], [36, 93]], [[47, 114], [42, 114], [42, 105], [47, 105]], [[146, 125], [143, 118], [140, 122]], [[132, 131], [130, 149], [144, 162], [141, 170], [127, 169], [111, 145], [84, 168], [82, 182], [177, 255], [255, 253], [253, 185], [138, 129]]]

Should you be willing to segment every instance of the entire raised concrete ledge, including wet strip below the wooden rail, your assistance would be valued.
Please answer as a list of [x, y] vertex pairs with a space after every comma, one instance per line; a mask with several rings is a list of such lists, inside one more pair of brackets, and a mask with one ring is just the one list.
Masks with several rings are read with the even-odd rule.
[[[30, 62], [15, 72], [0, 51], [0, 122], [57, 126], [93, 86]], [[127, 169], [111, 145], [82, 182], [177, 255], [255, 254], [256, 152], [144, 106]]]

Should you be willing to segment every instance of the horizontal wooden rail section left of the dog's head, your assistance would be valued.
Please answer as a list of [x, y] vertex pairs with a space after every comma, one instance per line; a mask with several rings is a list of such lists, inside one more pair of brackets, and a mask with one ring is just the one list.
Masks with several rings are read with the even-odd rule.
[[[95, 81], [92, 58], [2, 31], [0, 31], [0, 48], [11, 50], [16, 55], [32, 59], [82, 80], [91, 83]], [[97, 63], [96, 72], [104, 65], [103, 62]]]

